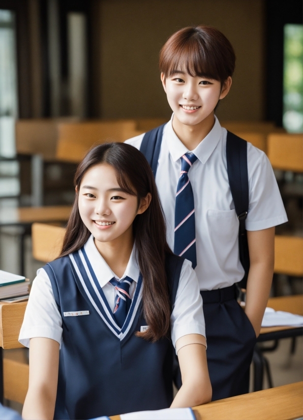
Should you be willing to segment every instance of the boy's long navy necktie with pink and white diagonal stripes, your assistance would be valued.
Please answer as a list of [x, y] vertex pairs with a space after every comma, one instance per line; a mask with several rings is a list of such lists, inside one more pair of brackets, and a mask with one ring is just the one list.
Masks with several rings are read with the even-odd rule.
[[188, 172], [197, 160], [193, 153], [181, 156], [181, 174], [178, 181], [175, 206], [174, 253], [197, 265], [195, 204]]

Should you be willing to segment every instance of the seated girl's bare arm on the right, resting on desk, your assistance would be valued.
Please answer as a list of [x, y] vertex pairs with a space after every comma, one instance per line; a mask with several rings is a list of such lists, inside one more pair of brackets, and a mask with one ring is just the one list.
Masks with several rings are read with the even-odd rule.
[[177, 340], [182, 386], [171, 408], [193, 407], [211, 400], [205, 344], [205, 337], [200, 334], [189, 334]]

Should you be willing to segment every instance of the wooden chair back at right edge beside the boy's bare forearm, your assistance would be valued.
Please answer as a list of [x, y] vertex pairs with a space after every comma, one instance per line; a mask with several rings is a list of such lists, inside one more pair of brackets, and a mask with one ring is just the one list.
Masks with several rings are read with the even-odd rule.
[[303, 276], [303, 238], [275, 236], [275, 273]]

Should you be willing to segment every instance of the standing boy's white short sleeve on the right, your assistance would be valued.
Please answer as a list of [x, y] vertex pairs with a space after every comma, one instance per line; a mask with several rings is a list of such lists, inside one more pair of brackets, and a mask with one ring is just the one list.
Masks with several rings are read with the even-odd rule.
[[262, 230], [287, 222], [274, 171], [264, 152], [248, 143], [249, 212], [247, 230]]

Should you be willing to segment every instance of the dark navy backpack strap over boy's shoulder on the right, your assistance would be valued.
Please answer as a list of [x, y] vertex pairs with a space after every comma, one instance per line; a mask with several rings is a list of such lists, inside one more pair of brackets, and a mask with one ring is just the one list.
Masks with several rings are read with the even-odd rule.
[[249, 185], [247, 169], [247, 141], [233, 133], [227, 132], [226, 161], [229, 187], [239, 220], [239, 254], [245, 270], [244, 278], [239, 282], [241, 288], [246, 288], [250, 267], [249, 249], [245, 220], [249, 206]]

